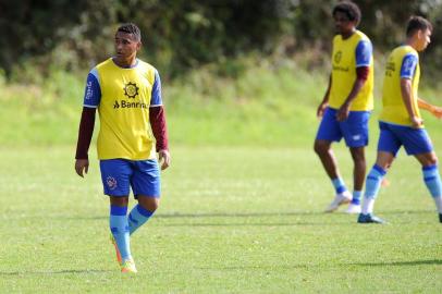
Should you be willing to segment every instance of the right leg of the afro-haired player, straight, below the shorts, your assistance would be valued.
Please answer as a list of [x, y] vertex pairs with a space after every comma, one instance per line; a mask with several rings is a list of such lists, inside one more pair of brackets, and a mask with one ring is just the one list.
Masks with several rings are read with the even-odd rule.
[[360, 212], [360, 196], [363, 195], [364, 181], [366, 176], [365, 147], [351, 147], [349, 151], [353, 159], [353, 198], [346, 212]]

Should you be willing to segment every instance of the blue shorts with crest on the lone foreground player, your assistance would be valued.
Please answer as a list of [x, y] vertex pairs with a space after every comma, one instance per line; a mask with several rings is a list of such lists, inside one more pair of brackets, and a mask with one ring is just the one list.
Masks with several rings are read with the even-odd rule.
[[106, 195], [128, 196], [132, 187], [135, 198], [138, 195], [160, 197], [160, 170], [157, 160], [100, 160], [100, 170]]

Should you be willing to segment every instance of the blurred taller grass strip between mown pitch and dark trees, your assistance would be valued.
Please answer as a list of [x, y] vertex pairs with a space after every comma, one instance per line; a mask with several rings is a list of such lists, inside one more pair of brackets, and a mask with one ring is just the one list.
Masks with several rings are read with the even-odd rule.
[[[293, 60], [269, 62], [256, 57], [232, 63], [238, 70], [222, 76], [221, 65], [209, 64], [179, 79], [163, 81], [172, 144], [269, 148], [311, 145], [318, 125], [316, 108], [326, 90], [328, 70], [307, 71]], [[380, 110], [383, 65], [378, 63], [372, 126]], [[0, 128], [0, 144], [74, 144], [86, 75], [86, 71], [81, 76], [52, 71], [48, 78], [36, 78], [30, 84], [8, 84], [0, 76], [0, 118], [9, 126]], [[422, 97], [441, 105], [440, 89], [426, 86], [426, 77], [422, 82]], [[430, 133], [442, 138], [439, 122], [428, 118], [425, 115]], [[372, 132], [376, 137], [377, 127]]]

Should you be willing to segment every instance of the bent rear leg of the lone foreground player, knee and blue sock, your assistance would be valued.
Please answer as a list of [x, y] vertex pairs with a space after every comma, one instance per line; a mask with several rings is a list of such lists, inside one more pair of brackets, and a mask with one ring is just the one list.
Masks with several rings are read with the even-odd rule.
[[128, 230], [132, 235], [142, 226], [157, 210], [160, 199], [155, 196], [138, 195], [138, 204], [128, 215]]

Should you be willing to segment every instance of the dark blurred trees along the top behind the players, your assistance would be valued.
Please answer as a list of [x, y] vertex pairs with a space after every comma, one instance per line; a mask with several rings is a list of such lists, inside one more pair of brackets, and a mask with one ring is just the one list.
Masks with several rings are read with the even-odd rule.
[[[323, 0], [0, 0], [0, 68], [9, 78], [30, 72], [45, 75], [52, 68], [91, 68], [113, 52], [119, 24], [134, 22], [142, 29], [142, 58], [165, 77], [201, 64], [283, 49], [329, 52], [334, 25], [332, 7]], [[442, 0], [360, 0], [360, 29], [385, 51], [404, 38], [412, 14], [434, 25], [425, 59], [441, 69]], [[29, 70], [30, 68], [30, 70]]]

